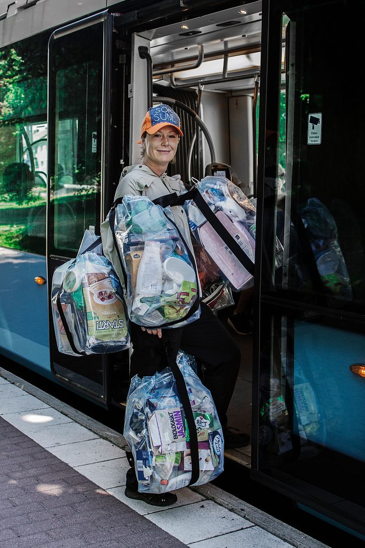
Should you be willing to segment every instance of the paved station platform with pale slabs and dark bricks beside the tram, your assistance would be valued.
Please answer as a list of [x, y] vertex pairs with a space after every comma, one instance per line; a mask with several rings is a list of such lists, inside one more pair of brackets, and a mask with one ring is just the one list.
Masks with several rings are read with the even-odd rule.
[[0, 368], [2, 548], [328, 548], [212, 484], [124, 495], [123, 436]]

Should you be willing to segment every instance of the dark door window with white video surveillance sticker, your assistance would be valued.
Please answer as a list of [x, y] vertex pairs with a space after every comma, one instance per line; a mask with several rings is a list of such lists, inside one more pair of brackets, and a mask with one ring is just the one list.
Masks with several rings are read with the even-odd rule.
[[266, 161], [266, 202], [276, 201], [276, 236], [284, 246], [276, 290], [300, 302], [364, 314], [363, 135], [357, 124], [365, 107], [361, 86], [344, 94], [339, 77], [340, 70], [356, 73], [364, 39], [359, 28], [351, 55], [341, 41], [329, 40], [329, 20], [331, 36], [341, 32], [336, 14], [323, 7], [283, 16], [285, 132], [282, 117], [266, 132], [273, 164]]

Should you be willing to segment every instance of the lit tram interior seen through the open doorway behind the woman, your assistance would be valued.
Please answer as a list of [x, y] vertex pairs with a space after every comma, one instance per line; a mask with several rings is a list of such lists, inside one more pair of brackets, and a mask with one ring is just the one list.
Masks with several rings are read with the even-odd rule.
[[[154, 102], [167, 102], [163, 98], [182, 102], [199, 115], [209, 133], [207, 138], [206, 132], [186, 111], [178, 104], [171, 104], [182, 120], [184, 131], [176, 163], [170, 167], [171, 174], [181, 174], [189, 187], [192, 177], [201, 180], [205, 175], [217, 174], [215, 163], [225, 164], [229, 178], [253, 203], [256, 198], [260, 5], [254, 2], [134, 36], [134, 66], [138, 66], [139, 75], [135, 68], [134, 87], [138, 85], [140, 89], [140, 85], [146, 85], [143, 78], [147, 76], [147, 62], [138, 58], [137, 48], [147, 45], [153, 63]], [[137, 81], [141, 75], [142, 81]], [[140, 148], [135, 142], [143, 108], [134, 101], [130, 142], [134, 163], [140, 158]], [[221, 166], [221, 169], [224, 168]], [[232, 292], [233, 304], [216, 311], [241, 349], [239, 377], [228, 411], [229, 426], [250, 435], [252, 334], [236, 333], [227, 320], [240, 299], [247, 301], [247, 311], [251, 312], [252, 294], [253, 288]], [[250, 465], [251, 446], [229, 449], [228, 453], [240, 464]]]

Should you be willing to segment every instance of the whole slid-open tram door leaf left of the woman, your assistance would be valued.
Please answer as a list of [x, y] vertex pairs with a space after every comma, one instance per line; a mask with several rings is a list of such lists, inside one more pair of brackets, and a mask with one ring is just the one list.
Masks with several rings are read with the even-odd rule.
[[[101, 14], [61, 28], [50, 40], [49, 279], [57, 266], [76, 256], [86, 229], [100, 233], [109, 18]], [[104, 356], [62, 355], [52, 330], [51, 364], [61, 381], [105, 401]]]

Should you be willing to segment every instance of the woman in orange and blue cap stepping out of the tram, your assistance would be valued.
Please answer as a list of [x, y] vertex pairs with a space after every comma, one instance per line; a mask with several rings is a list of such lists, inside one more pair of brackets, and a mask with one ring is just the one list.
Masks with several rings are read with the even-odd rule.
[[[166, 175], [169, 162], [175, 158], [180, 138], [183, 137], [180, 119], [167, 105], [159, 105], [148, 110], [141, 127], [142, 161], [139, 165], [126, 167], [121, 174], [115, 198], [126, 195], [147, 196], [151, 201], [167, 193], [180, 194], [186, 189], [179, 175]], [[181, 206], [171, 208], [173, 218], [183, 232], [186, 242], [193, 252], [189, 224]], [[123, 273], [114, 248], [108, 221], [102, 226], [103, 249], [111, 260], [120, 279]], [[153, 375], [167, 366], [163, 341], [169, 341], [173, 350], [182, 349], [193, 355], [204, 368], [204, 384], [211, 391], [221, 421], [225, 447], [242, 447], [248, 444], [250, 436], [233, 433], [227, 427], [227, 409], [234, 391], [240, 367], [240, 350], [222, 323], [210, 308], [201, 303], [199, 319], [184, 327], [150, 329], [131, 323], [131, 377], [138, 374]], [[156, 506], [168, 506], [177, 500], [174, 493], [138, 493], [138, 483], [132, 465], [131, 455], [127, 454], [131, 469], [127, 472], [125, 495], [143, 500]]]

